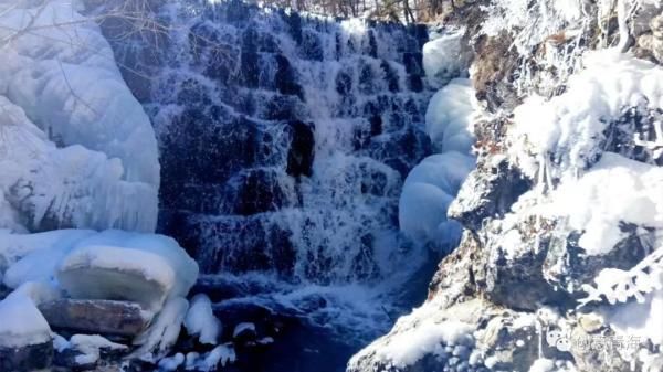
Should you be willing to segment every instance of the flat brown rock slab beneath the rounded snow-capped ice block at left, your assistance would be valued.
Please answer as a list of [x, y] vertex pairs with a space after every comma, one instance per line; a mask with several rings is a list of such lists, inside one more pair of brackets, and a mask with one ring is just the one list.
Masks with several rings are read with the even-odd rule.
[[135, 337], [147, 325], [134, 302], [59, 299], [41, 304], [39, 310], [52, 329], [70, 332]]

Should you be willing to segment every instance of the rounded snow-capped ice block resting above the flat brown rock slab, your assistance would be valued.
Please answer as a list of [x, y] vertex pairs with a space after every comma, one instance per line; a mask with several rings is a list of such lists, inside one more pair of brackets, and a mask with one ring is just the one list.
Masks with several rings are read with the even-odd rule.
[[60, 264], [57, 280], [80, 299], [114, 299], [158, 310], [186, 296], [198, 265], [172, 238], [108, 231], [78, 245]]

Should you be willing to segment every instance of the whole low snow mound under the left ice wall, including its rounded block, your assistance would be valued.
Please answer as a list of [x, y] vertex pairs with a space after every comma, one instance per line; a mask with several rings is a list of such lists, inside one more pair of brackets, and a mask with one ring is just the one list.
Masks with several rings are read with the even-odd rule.
[[0, 257], [10, 288], [57, 279], [76, 297], [134, 299], [152, 310], [186, 296], [198, 277], [198, 264], [175, 240], [123, 231], [0, 231]]

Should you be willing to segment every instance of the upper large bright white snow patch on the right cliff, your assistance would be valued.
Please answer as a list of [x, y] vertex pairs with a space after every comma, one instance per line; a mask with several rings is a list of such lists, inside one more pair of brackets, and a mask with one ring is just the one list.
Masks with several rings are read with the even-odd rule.
[[509, 153], [533, 178], [548, 156], [561, 171], [586, 169], [600, 155], [610, 120], [624, 108], [663, 105], [660, 66], [614, 50], [587, 53], [583, 63], [566, 93], [549, 100], [529, 97], [514, 111]]

